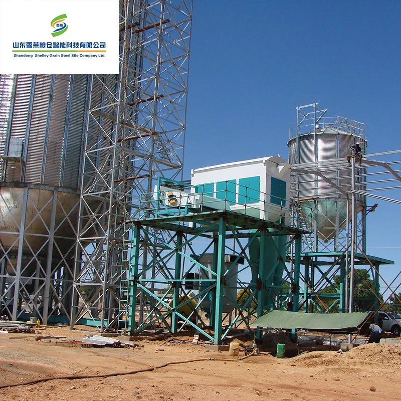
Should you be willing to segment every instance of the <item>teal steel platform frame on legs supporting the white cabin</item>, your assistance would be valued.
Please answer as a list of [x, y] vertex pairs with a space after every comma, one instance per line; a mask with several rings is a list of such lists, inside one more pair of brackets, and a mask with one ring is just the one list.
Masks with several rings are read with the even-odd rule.
[[[244, 200], [242, 213], [232, 211], [229, 181], [222, 189], [225, 196], [215, 199], [199, 194], [197, 203], [188, 195], [194, 196], [195, 186], [166, 179], [161, 182], [181, 191], [179, 199], [173, 192], [159, 195], [154, 217], [125, 223], [125, 230], [133, 235], [127, 238], [122, 264], [122, 288], [127, 292], [126, 307], [120, 313], [122, 331], [132, 335], [146, 329], [177, 332], [189, 327], [221, 344], [232, 328], [249, 326], [250, 319], [277, 307], [277, 302], [285, 304], [292, 296], [298, 308], [296, 279], [295, 285], [287, 288], [282, 285], [282, 274], [275, 277], [277, 270], [289, 273], [285, 254], [294, 244], [295, 277], [299, 278], [304, 232], [284, 224], [288, 210], [282, 207], [282, 218], [272, 223], [255, 217], [254, 200]], [[163, 232], [169, 233], [167, 240], [161, 236]], [[141, 255], [145, 236], [156, 251], [147, 260]], [[157, 269], [155, 275], [146, 274], [153, 269]], [[154, 286], [160, 291], [152, 290]], [[286, 293], [280, 298], [283, 290]], [[143, 320], [137, 319], [139, 291], [148, 305]], [[261, 331], [258, 337], [262, 337]]]

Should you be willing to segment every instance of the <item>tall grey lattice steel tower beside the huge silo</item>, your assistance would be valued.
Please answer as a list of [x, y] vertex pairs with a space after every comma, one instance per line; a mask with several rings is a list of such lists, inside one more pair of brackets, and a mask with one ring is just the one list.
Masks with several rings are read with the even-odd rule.
[[192, 0], [120, 1], [119, 75], [91, 77], [72, 326], [117, 327], [122, 223], [150, 205], [156, 175], [181, 178], [191, 19]]

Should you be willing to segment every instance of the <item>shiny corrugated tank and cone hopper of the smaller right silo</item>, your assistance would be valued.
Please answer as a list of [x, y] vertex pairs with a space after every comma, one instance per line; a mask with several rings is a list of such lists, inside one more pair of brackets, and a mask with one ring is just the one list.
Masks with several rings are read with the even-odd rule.
[[[318, 124], [309, 124], [306, 132], [297, 132], [288, 142], [289, 162], [293, 168], [323, 171], [326, 178], [349, 192], [351, 174], [344, 161], [355, 142], [360, 142], [363, 153], [367, 141], [362, 131], [356, 131], [355, 125], [344, 121], [341, 117], [322, 118]], [[329, 167], [329, 162], [334, 163], [332, 167]], [[313, 173], [293, 174], [291, 189], [292, 197], [300, 207], [299, 212], [310, 229], [324, 243], [333, 240], [347, 222], [347, 196]], [[364, 205], [365, 198], [359, 196], [358, 211]], [[336, 243], [334, 248], [340, 250], [341, 246]]]

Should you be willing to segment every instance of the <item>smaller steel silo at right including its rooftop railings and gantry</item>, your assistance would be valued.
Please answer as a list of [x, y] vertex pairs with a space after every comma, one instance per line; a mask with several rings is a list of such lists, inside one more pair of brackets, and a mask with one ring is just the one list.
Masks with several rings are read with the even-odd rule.
[[[364, 153], [367, 141], [364, 124], [338, 116], [326, 117], [326, 110], [318, 110], [316, 105], [297, 108], [297, 132], [288, 142], [290, 165], [298, 170], [292, 174], [292, 198], [299, 218], [313, 232], [309, 251], [341, 251], [346, 247], [345, 230], [350, 218], [351, 171], [346, 157], [356, 142]], [[308, 173], [309, 170], [314, 172]], [[355, 170], [359, 185], [363, 184], [363, 171], [363, 167]], [[364, 208], [365, 198], [359, 196], [357, 212]]]

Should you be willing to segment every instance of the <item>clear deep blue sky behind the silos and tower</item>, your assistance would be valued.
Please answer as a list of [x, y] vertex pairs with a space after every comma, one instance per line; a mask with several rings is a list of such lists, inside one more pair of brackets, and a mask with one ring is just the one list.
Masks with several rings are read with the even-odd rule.
[[[316, 101], [366, 123], [368, 153], [401, 149], [400, 15], [395, 0], [195, 0], [184, 178], [206, 165], [287, 158], [295, 107]], [[400, 212], [379, 202], [368, 219], [368, 253], [398, 264], [388, 278], [401, 250], [382, 247], [400, 245]]]

